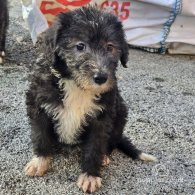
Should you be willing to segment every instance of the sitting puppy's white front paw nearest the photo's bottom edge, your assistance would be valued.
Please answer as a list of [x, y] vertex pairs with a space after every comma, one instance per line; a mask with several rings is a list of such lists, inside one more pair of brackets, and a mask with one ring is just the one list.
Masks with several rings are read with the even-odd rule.
[[87, 173], [83, 173], [79, 176], [77, 185], [82, 188], [84, 192], [95, 192], [101, 187], [102, 179], [100, 177], [90, 176]]

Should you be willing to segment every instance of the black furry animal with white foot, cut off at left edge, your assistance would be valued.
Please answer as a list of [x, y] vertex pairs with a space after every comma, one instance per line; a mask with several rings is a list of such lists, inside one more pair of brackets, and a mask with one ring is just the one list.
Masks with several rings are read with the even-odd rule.
[[5, 39], [9, 22], [7, 0], [0, 0], [0, 64], [5, 57]]

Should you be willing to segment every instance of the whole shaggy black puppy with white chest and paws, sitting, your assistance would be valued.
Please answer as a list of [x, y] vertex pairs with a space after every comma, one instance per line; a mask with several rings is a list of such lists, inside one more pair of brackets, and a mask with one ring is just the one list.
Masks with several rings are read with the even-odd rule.
[[126, 67], [128, 45], [116, 16], [84, 7], [58, 15], [42, 34], [42, 51], [27, 92], [34, 157], [28, 176], [42, 176], [53, 149], [79, 144], [82, 174], [78, 187], [94, 192], [101, 186], [100, 168], [114, 148], [133, 159], [155, 161], [123, 135], [127, 108], [116, 79]]

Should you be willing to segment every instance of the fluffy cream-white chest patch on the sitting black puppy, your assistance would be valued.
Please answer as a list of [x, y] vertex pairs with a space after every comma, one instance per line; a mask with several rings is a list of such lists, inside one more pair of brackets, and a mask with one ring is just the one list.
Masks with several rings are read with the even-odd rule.
[[94, 94], [78, 88], [73, 81], [64, 83], [64, 91], [63, 107], [44, 105], [44, 108], [57, 121], [55, 128], [59, 141], [74, 144], [82, 131], [81, 125], [86, 124], [86, 116], [95, 116], [103, 107], [95, 104], [97, 97]]

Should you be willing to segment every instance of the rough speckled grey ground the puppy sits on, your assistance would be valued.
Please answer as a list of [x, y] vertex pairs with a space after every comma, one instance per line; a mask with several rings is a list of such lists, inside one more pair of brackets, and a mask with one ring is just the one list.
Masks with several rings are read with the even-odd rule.
[[[32, 155], [25, 91], [34, 61], [21, 6], [10, 1], [7, 59], [0, 66], [0, 194], [83, 194], [75, 184], [78, 149], [56, 155], [44, 177], [24, 175]], [[130, 50], [128, 69], [119, 68], [118, 77], [129, 107], [125, 133], [159, 161], [132, 161], [114, 151], [95, 194], [195, 194], [195, 57]]]

